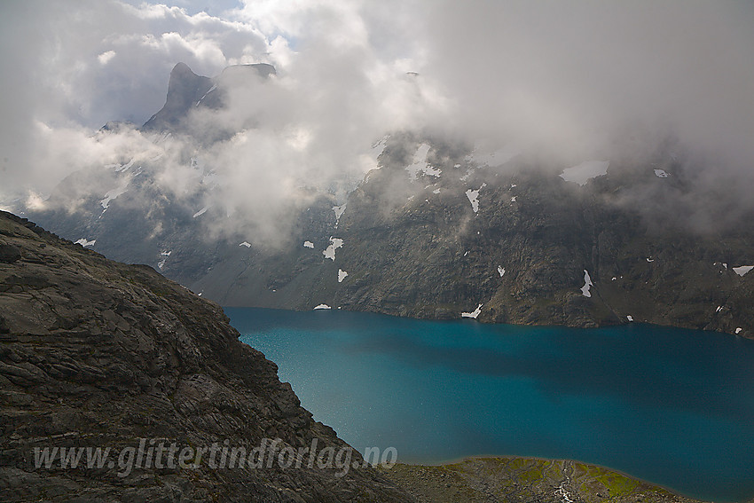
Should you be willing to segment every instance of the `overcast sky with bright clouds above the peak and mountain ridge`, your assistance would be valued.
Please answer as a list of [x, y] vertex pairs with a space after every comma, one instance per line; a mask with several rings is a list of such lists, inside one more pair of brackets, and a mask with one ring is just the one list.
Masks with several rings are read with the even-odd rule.
[[319, 160], [306, 176], [424, 123], [569, 158], [604, 153], [607, 137], [638, 124], [741, 173], [754, 166], [745, 0], [5, 0], [0, 42], [5, 193], [49, 191], [100, 161], [113, 145], [94, 145], [92, 132], [145, 122], [178, 61], [208, 76], [277, 67], [267, 114], [279, 123], [264, 138], [286, 123], [318, 139], [303, 152]]

